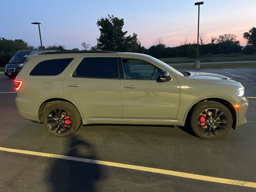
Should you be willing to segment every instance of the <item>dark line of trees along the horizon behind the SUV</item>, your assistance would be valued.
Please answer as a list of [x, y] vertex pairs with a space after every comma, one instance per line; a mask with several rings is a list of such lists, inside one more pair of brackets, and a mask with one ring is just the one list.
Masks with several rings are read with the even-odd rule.
[[[100, 18], [96, 22], [100, 30], [100, 37], [97, 38], [97, 45], [90, 46], [82, 42], [84, 50], [110, 50], [120, 52], [137, 52], [151, 55], [156, 58], [169, 57], [190, 57], [196, 58], [196, 43], [188, 43], [187, 38], [180, 46], [167, 47], [162, 38], [153, 40], [154, 45], [150, 48], [142, 46], [138, 40], [138, 35], [127, 35], [128, 31], [123, 31], [124, 19], [108, 15], [106, 18]], [[243, 37], [247, 40], [247, 45], [242, 47], [236, 40], [234, 34], [222, 34], [218, 37], [212, 37], [209, 43], [204, 42], [205, 34], [200, 33], [199, 55], [202, 57], [207, 54], [256, 54], [256, 28], [252, 27], [248, 32], [244, 32]], [[33, 47], [21, 39], [7, 40], [0, 38], [0, 66], [5, 66], [10, 58], [18, 50], [41, 49], [40, 46]], [[78, 51], [78, 48], [72, 50], [65, 49], [65, 45], [54, 44], [44, 47], [44, 50]]]

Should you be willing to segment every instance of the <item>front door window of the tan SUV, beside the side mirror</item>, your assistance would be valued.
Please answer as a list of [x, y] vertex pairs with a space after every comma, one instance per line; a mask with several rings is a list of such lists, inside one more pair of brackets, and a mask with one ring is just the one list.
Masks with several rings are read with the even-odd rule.
[[158, 79], [161, 69], [149, 62], [122, 58], [125, 79]]

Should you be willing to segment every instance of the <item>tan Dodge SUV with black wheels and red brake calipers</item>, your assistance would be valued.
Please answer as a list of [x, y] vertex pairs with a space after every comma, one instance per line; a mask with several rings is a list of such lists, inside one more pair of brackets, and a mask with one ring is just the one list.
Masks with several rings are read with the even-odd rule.
[[145, 54], [49, 52], [30, 59], [16, 77], [23, 118], [43, 122], [55, 136], [82, 124], [192, 127], [215, 139], [247, 122], [240, 82], [218, 74], [179, 72]]

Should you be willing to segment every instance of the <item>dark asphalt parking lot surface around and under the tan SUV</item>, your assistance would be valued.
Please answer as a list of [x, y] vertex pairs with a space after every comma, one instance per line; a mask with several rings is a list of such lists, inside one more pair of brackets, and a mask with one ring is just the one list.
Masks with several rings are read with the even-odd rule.
[[13, 80], [0, 74], [0, 191], [256, 191], [256, 68], [199, 71], [240, 81], [250, 97], [248, 123], [219, 140], [141, 125], [88, 125], [57, 138], [18, 115]]

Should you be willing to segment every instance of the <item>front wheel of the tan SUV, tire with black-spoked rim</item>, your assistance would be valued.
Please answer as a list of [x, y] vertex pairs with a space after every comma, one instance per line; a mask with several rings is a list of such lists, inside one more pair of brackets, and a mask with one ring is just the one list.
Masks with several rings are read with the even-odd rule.
[[193, 109], [190, 123], [198, 137], [218, 139], [229, 132], [233, 118], [230, 110], [223, 104], [204, 101]]

